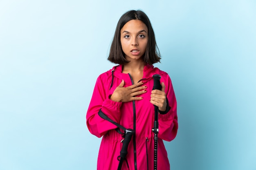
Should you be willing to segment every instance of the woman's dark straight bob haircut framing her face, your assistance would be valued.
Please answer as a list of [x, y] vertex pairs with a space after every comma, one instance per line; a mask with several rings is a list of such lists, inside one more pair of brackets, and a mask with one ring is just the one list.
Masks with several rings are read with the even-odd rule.
[[143, 11], [128, 11], [124, 13], [117, 23], [117, 28], [115, 31], [115, 35], [110, 47], [110, 53], [108, 56], [108, 60], [115, 64], [126, 64], [129, 61], [125, 59], [124, 51], [121, 47], [121, 29], [123, 26], [130, 20], [141, 20], [148, 27], [148, 44], [146, 46], [146, 52], [144, 54], [143, 60], [145, 64], [154, 64], [160, 62], [160, 53], [155, 41], [155, 33], [151, 26], [150, 20], [148, 16]]

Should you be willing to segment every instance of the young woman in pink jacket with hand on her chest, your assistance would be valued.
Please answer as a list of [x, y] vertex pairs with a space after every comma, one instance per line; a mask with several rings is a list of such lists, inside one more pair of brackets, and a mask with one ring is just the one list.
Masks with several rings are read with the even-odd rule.
[[[155, 106], [159, 108], [157, 169], [170, 170], [163, 140], [171, 141], [177, 134], [177, 104], [170, 77], [153, 66], [160, 59], [147, 15], [133, 10], [124, 13], [108, 57], [119, 65], [99, 75], [86, 115], [89, 131], [103, 136], [97, 170], [153, 170]], [[155, 74], [161, 76], [162, 90], [152, 90]], [[121, 168], [124, 137], [117, 124], [134, 132]]]

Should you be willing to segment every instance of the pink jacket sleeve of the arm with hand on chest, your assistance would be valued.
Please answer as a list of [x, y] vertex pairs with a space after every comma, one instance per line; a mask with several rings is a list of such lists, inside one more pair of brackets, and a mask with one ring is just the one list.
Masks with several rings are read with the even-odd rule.
[[120, 107], [122, 103], [113, 102], [108, 98], [106, 81], [104, 81], [102, 77], [103, 76], [100, 75], [97, 79], [86, 114], [87, 127], [89, 131], [97, 137], [105, 135], [108, 130], [117, 128], [117, 126], [99, 116], [98, 112], [100, 109], [106, 116], [117, 123], [120, 122], [121, 117]]

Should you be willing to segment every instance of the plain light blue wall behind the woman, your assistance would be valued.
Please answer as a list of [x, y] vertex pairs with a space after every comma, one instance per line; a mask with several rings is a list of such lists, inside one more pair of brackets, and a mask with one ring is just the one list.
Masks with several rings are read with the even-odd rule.
[[120, 16], [148, 14], [178, 102], [172, 170], [256, 170], [254, 0], [0, 1], [0, 170], [96, 170], [85, 124]]

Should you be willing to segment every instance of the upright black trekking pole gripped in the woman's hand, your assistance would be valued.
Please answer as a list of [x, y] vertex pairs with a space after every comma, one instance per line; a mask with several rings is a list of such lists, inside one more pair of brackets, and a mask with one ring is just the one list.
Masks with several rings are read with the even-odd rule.
[[[153, 90], [162, 90], [162, 86], [160, 84], [160, 78], [161, 76], [158, 74], [153, 75], [154, 79], [154, 86]], [[155, 105], [154, 105], [155, 106]], [[155, 106], [155, 121], [154, 121], [154, 128], [152, 128], [152, 131], [154, 132], [154, 170], [157, 170], [157, 141], [158, 141], [158, 107]]]

